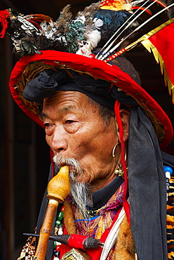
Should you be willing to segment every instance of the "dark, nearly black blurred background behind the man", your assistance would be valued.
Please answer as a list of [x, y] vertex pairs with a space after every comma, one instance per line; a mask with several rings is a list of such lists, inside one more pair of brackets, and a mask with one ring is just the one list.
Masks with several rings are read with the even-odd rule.
[[[58, 18], [62, 8], [72, 5], [72, 13], [82, 11], [93, 1], [82, 0], [1, 0], [0, 10], [13, 8], [25, 15], [44, 13]], [[173, 0], [169, 0], [171, 4]], [[161, 10], [154, 4], [152, 13]], [[139, 37], [161, 25], [173, 15], [163, 13], [141, 30]], [[146, 20], [149, 15], [143, 15]], [[132, 40], [133, 41], [133, 40]], [[11, 98], [8, 79], [15, 65], [13, 46], [8, 36], [0, 39], [0, 259], [17, 259], [25, 243], [22, 233], [32, 233], [41, 199], [46, 188], [50, 167], [50, 150], [44, 129], [32, 122]], [[140, 73], [142, 86], [166, 111], [174, 125], [174, 110], [168, 88], [164, 86], [159, 65], [143, 46], [126, 53]], [[174, 141], [166, 152], [174, 155]]]

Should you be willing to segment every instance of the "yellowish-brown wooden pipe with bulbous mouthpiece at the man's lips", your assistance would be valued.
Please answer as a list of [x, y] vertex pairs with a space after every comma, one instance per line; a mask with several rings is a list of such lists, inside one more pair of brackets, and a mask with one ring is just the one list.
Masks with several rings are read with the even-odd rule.
[[41, 226], [39, 242], [37, 245], [34, 260], [45, 260], [46, 249], [48, 247], [48, 240], [51, 235], [53, 226], [53, 219], [55, 211], [60, 202], [64, 202], [65, 198], [69, 194], [69, 166], [65, 165], [61, 167], [57, 175], [55, 175], [48, 183], [48, 207], [44, 217], [44, 222]]

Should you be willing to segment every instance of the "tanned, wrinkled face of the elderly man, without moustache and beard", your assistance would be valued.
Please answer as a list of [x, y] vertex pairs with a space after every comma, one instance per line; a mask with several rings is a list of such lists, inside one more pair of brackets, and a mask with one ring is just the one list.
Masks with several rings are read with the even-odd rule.
[[118, 142], [114, 118], [106, 126], [86, 95], [56, 91], [44, 100], [43, 119], [46, 141], [55, 155], [74, 158], [81, 165], [83, 174], [77, 181], [98, 190], [114, 179], [112, 150]]

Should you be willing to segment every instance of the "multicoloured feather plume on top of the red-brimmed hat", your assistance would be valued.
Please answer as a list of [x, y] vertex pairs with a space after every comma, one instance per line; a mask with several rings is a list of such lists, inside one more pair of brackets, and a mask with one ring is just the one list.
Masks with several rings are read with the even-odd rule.
[[77, 13], [75, 18], [72, 18], [68, 5], [55, 21], [47, 15], [22, 15], [8, 9], [8, 20], [4, 23], [4, 28], [8, 23], [7, 33], [11, 36], [14, 52], [19, 57], [47, 49], [91, 56], [95, 53], [95, 48], [102, 48], [113, 36], [112, 45], [129, 35], [132, 37], [133, 30], [140, 23], [140, 14], [149, 12], [144, 4], [137, 6], [148, 1], [157, 0], [102, 0]]

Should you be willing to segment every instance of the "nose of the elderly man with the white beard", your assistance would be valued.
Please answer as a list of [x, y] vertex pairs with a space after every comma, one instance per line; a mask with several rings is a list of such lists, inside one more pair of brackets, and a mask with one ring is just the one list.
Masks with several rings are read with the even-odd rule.
[[64, 152], [67, 150], [66, 134], [60, 127], [55, 127], [49, 145], [54, 152]]

